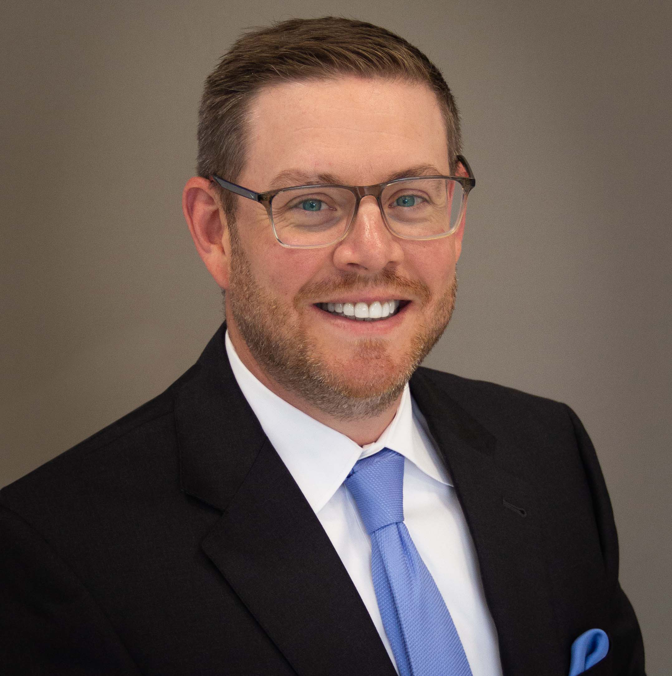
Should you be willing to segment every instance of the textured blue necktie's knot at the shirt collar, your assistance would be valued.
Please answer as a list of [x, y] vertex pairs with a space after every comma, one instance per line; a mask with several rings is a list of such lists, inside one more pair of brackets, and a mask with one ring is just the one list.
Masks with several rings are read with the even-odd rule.
[[404, 521], [404, 456], [383, 448], [359, 460], [345, 479], [345, 486], [369, 534]]

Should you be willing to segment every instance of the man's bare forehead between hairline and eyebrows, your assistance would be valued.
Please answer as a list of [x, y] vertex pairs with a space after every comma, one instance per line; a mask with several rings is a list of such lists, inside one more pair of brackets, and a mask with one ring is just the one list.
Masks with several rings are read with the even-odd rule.
[[[263, 89], [250, 107], [241, 184], [258, 190], [288, 170], [379, 183], [408, 166], [449, 172], [446, 126], [425, 84], [343, 77]], [[247, 184], [243, 183], [247, 180]]]

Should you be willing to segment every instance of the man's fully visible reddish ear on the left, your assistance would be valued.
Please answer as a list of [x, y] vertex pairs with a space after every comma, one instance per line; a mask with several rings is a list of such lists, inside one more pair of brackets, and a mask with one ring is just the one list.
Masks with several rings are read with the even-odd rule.
[[229, 286], [229, 228], [218, 194], [207, 178], [193, 176], [182, 193], [182, 210], [196, 251], [222, 289]]

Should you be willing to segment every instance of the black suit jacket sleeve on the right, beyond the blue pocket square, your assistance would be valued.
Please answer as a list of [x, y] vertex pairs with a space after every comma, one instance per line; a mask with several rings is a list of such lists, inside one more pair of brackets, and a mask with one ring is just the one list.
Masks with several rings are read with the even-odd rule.
[[600, 547], [610, 598], [609, 650], [617, 676], [644, 676], [644, 642], [640, 626], [619, 583], [619, 544], [611, 502], [595, 449], [577, 415], [567, 407], [574, 426], [585, 473], [593, 496], [593, 509], [600, 533]]

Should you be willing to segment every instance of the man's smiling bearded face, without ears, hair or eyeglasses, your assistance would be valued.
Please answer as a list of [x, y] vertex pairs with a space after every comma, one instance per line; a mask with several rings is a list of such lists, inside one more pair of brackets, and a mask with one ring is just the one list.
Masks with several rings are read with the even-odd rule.
[[[417, 175], [418, 166], [450, 174], [443, 118], [424, 85], [291, 82], [262, 91], [252, 106], [247, 165], [237, 182], [256, 191], [372, 185]], [[226, 318], [237, 351], [247, 356], [249, 349], [270, 382], [333, 416], [387, 408], [450, 319], [462, 227], [442, 239], [400, 239], [385, 227], [375, 198], [364, 197], [345, 239], [287, 249], [274, 239], [264, 208], [239, 199], [229, 237]], [[400, 301], [399, 309], [373, 321], [324, 309], [376, 301], [388, 308]]]

